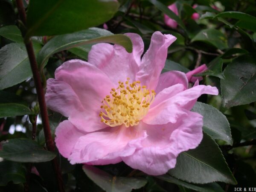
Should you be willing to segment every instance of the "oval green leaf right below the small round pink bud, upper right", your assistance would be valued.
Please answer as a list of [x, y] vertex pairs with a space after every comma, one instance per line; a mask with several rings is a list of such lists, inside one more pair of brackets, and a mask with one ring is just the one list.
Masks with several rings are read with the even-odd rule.
[[223, 33], [217, 29], [203, 29], [194, 38], [191, 42], [203, 41], [207, 44], [211, 44], [217, 49], [226, 49], [227, 48], [227, 39]]

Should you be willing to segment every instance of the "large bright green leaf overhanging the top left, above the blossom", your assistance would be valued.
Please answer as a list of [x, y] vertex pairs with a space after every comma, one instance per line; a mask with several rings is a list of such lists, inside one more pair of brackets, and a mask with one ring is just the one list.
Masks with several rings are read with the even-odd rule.
[[61, 35], [98, 26], [117, 12], [116, 0], [30, 0], [27, 36]]

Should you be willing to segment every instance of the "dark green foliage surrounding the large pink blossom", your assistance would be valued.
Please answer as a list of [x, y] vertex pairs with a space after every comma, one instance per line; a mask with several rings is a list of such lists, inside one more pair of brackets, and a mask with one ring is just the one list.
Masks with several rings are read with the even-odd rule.
[[[57, 192], [51, 160], [57, 157], [67, 192], [233, 192], [256, 187], [256, 2], [254, 0], [23, 0], [27, 22], [15, 0], [0, 0], [0, 192]], [[179, 14], [168, 9], [176, 3]], [[195, 7], [194, 5], [197, 4]], [[216, 7], [215, 7], [216, 6]], [[195, 13], [200, 19], [193, 20]], [[164, 23], [166, 14], [178, 24]], [[102, 29], [106, 23], [108, 30]], [[93, 27], [93, 28], [89, 28]], [[100, 42], [132, 52], [141, 35], [147, 50], [155, 31], [172, 34], [162, 73], [184, 73], [206, 64], [200, 84], [218, 87], [192, 111], [204, 118], [200, 145], [177, 157], [174, 169], [150, 176], [125, 163], [71, 165], [46, 142], [25, 41], [32, 39], [43, 86], [64, 61], [87, 61]], [[47, 36], [45, 36], [47, 35]], [[189, 85], [190, 87], [192, 84]], [[46, 87], [44, 87], [46, 88]], [[38, 115], [35, 141], [29, 119]], [[48, 111], [51, 135], [67, 118]], [[245, 143], [245, 144], [244, 144]], [[33, 163], [33, 164], [31, 164]], [[26, 184], [32, 166], [30, 183]], [[39, 175], [37, 175], [38, 173]]]

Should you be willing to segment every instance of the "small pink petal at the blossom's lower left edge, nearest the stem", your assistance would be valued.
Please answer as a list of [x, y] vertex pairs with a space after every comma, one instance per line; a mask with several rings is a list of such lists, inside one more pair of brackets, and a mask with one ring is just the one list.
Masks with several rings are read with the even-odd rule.
[[61, 122], [55, 131], [55, 143], [61, 155], [68, 158], [77, 140], [84, 134], [68, 120]]

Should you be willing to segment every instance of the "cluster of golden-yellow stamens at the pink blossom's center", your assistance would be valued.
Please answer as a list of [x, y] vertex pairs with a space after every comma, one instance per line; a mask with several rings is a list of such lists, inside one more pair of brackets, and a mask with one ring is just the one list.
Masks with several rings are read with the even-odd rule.
[[125, 127], [138, 125], [140, 119], [148, 113], [150, 104], [154, 101], [155, 91], [146, 86], [140, 86], [140, 81], [125, 83], [119, 81], [119, 86], [112, 88], [103, 101], [99, 113], [101, 122], [115, 127], [124, 124]]

